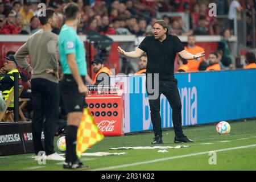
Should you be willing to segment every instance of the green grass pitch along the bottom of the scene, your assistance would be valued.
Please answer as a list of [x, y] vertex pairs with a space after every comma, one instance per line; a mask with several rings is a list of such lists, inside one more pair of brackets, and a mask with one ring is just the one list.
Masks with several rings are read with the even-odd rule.
[[[195, 142], [184, 144], [191, 147], [167, 149], [168, 153], [158, 153], [158, 149], [109, 150], [112, 147], [153, 146], [151, 145], [153, 133], [106, 137], [87, 152], [128, 152], [128, 154], [101, 157], [83, 156], [81, 160], [84, 164], [89, 165], [90, 169], [106, 170], [256, 170], [256, 120], [229, 123], [231, 126], [229, 135], [219, 135], [216, 132], [216, 123], [184, 127], [184, 134]], [[55, 138], [55, 144], [57, 139], [58, 137]], [[164, 144], [162, 146], [179, 145], [175, 144], [173, 140], [174, 131], [172, 129], [163, 131]], [[221, 142], [226, 140], [229, 142]], [[243, 146], [251, 147], [236, 148]], [[229, 150], [226, 151], [228, 148]], [[230, 150], [230, 148], [235, 149]], [[209, 164], [208, 151], [217, 151], [216, 165]], [[200, 152], [204, 153], [199, 154]], [[63, 170], [61, 162], [47, 160], [46, 165], [39, 165], [31, 156], [33, 154], [0, 156], [0, 170]], [[148, 163], [148, 161], [158, 159], [162, 159], [162, 161]], [[139, 162], [146, 163], [138, 164]], [[131, 164], [131, 166], [120, 167], [124, 164]]]

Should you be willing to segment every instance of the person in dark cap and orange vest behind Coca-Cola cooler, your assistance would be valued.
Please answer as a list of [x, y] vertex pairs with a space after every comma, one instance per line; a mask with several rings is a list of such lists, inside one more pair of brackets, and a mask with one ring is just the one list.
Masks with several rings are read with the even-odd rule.
[[96, 57], [92, 61], [93, 72], [96, 73], [94, 77], [94, 85], [109, 85], [110, 84], [110, 75], [112, 75], [109, 68], [104, 66], [104, 61]]

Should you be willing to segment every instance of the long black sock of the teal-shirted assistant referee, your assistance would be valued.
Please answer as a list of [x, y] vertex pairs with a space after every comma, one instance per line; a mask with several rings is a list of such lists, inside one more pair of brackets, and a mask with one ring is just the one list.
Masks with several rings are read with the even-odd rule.
[[65, 162], [76, 162], [76, 136], [77, 136], [77, 126], [68, 125], [66, 130], [66, 160]]

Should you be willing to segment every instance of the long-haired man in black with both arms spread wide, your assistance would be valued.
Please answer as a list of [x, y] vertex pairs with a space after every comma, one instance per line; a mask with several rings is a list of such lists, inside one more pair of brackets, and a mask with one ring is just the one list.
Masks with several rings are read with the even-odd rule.
[[[177, 79], [174, 77], [174, 60], [176, 53], [179, 53], [183, 59], [192, 60], [204, 56], [204, 52], [192, 55], [185, 51], [183, 43], [177, 36], [170, 35], [168, 24], [164, 20], [158, 20], [153, 26], [154, 36], [147, 36], [135, 51], [125, 52], [121, 47], [118, 47], [118, 52], [130, 58], [138, 58], [144, 52], [147, 53], [147, 93], [150, 104], [150, 115], [152, 126], [155, 134], [152, 144], [161, 144], [162, 128], [160, 118], [160, 94], [166, 96], [172, 107], [172, 122], [174, 123], [175, 143], [193, 142], [188, 139], [181, 128], [181, 101], [179, 90], [177, 89]], [[151, 79], [150, 74], [154, 75]], [[159, 81], [157, 79], [159, 77]], [[158, 86], [159, 93], [157, 98], [152, 98], [151, 89], [148, 84], [154, 83], [154, 88]], [[158, 82], [155, 82], [158, 81]], [[158, 85], [157, 85], [158, 84]], [[150, 84], [151, 85], [151, 84]]]

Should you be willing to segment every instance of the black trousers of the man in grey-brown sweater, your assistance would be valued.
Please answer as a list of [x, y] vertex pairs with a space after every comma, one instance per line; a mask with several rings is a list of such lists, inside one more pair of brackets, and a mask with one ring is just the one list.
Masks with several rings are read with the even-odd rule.
[[[58, 107], [60, 100], [59, 84], [44, 78], [31, 80], [33, 97], [32, 135], [35, 154], [45, 151], [46, 155], [53, 154], [54, 135], [58, 121]], [[44, 131], [44, 147], [41, 140]]]

